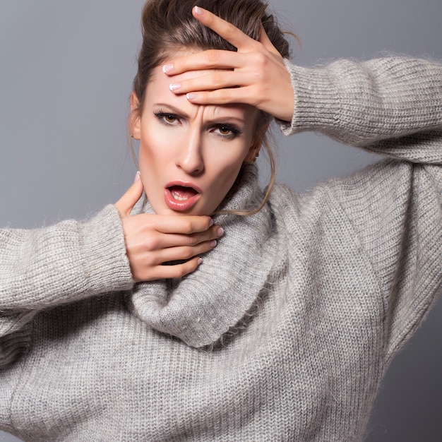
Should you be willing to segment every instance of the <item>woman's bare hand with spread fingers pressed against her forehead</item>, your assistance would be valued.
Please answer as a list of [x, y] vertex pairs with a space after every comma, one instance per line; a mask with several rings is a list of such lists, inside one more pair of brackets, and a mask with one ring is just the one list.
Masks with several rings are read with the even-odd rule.
[[180, 83], [173, 83], [172, 79], [172, 92], [187, 94], [195, 104], [250, 104], [273, 117], [291, 121], [294, 97], [290, 76], [264, 28], [256, 41], [203, 8], [195, 6], [192, 13], [238, 52], [209, 49], [174, 59], [163, 66], [169, 76], [203, 69], [215, 71]]

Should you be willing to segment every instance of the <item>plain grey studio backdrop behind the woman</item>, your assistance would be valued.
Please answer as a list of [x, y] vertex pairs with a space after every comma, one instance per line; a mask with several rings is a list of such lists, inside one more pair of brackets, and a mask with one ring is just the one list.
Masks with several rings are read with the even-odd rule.
[[[0, 226], [82, 218], [131, 184], [126, 118], [142, 4], [1, 0]], [[441, 0], [271, 4], [301, 38], [302, 65], [386, 52], [442, 59]], [[278, 179], [299, 191], [374, 160], [312, 133], [276, 138]], [[439, 302], [390, 366], [366, 441], [442, 440], [441, 319]]]

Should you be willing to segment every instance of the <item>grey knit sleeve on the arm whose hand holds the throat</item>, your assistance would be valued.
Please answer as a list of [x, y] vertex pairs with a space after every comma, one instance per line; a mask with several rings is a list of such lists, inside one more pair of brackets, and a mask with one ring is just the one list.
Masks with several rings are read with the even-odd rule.
[[0, 366], [38, 311], [133, 285], [117, 209], [86, 222], [0, 229]]

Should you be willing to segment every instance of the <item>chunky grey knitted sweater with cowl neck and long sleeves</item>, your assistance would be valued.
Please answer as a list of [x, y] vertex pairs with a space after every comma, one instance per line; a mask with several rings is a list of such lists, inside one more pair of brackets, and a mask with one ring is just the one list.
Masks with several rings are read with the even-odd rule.
[[[133, 284], [117, 210], [0, 231], [0, 428], [25, 441], [359, 441], [442, 284], [442, 66], [287, 62], [285, 133], [390, 159], [251, 217], [180, 280]], [[227, 208], [262, 198], [244, 167]], [[149, 208], [147, 209], [149, 210]]]

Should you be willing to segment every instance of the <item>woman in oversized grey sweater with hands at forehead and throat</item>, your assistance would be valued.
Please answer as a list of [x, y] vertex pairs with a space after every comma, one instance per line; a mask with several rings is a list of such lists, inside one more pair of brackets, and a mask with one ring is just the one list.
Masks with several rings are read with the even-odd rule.
[[[232, 5], [218, 6], [226, 9], [218, 15], [241, 20]], [[245, 28], [251, 13], [240, 12]], [[271, 37], [272, 20], [262, 32], [262, 14], [251, 24], [259, 42], [202, 8], [193, 14], [239, 54], [216, 52], [208, 66], [208, 53], [199, 52], [206, 47], [181, 44], [152, 71], [140, 63], [130, 126], [141, 140], [141, 179], [118, 213], [108, 207], [86, 223], [2, 232], [2, 428], [22, 438], [358, 440], [390, 358], [438, 292], [441, 67], [386, 59], [309, 71], [284, 64], [274, 50], [283, 53], [284, 42], [277, 44], [278, 32]], [[158, 7], [156, 18], [151, 10], [144, 18], [161, 25], [166, 16]], [[185, 23], [199, 29], [190, 17]], [[146, 38], [149, 30], [159, 36], [144, 26]], [[278, 84], [289, 84], [287, 66], [294, 94], [241, 96], [249, 63], [238, 63], [249, 48]], [[204, 72], [212, 67], [221, 73]], [[221, 98], [197, 105], [214, 78]], [[269, 84], [263, 75], [251, 86], [261, 78]], [[213, 105], [228, 92], [241, 103]], [[266, 114], [291, 119], [285, 104], [295, 109], [292, 124], [280, 122], [287, 132], [321, 130], [400, 160], [305, 196], [275, 186], [261, 210], [236, 215], [265, 198], [253, 157]], [[217, 172], [223, 161], [227, 177]], [[147, 213], [129, 216], [141, 184], [149, 203], [135, 213]], [[211, 225], [205, 215], [213, 210]], [[23, 277], [17, 266], [25, 256], [32, 265]]]

